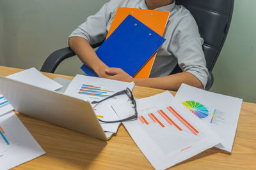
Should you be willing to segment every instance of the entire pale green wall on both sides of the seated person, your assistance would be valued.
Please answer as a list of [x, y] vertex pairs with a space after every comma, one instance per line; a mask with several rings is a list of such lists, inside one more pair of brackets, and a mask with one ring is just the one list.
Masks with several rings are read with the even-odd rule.
[[[225, 0], [223, 0], [225, 1]], [[90, 0], [0, 0], [0, 65], [40, 69], [54, 50], [67, 46], [68, 35], [108, 2]], [[235, 2], [227, 40], [213, 69], [212, 92], [256, 103], [255, 0]], [[56, 73], [81, 73], [76, 57]]]

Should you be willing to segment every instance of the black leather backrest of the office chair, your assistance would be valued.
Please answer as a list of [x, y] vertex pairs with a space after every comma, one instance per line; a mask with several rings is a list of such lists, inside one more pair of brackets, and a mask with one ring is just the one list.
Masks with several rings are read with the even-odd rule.
[[176, 0], [176, 4], [187, 8], [195, 18], [200, 35], [204, 38], [207, 68], [212, 71], [227, 37], [234, 0]]

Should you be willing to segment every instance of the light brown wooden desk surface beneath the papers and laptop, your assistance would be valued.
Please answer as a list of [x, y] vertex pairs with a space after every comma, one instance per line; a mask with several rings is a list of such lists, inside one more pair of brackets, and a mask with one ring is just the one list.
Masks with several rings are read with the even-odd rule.
[[[0, 66], [2, 76], [19, 71], [22, 69]], [[70, 76], [44, 74], [49, 78], [60, 76], [72, 80]], [[163, 91], [134, 87], [133, 93], [141, 98]], [[153, 169], [124, 126], [118, 129], [116, 136], [105, 142], [17, 114], [46, 154], [15, 169]], [[232, 154], [211, 148], [177, 164], [173, 169], [256, 169], [255, 131], [256, 104], [243, 103]]]

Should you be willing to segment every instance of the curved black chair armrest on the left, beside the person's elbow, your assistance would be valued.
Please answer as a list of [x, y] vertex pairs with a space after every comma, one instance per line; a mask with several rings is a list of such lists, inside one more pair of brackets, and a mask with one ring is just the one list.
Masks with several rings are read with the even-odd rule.
[[74, 55], [76, 55], [76, 53], [74, 53], [69, 46], [56, 50], [47, 57], [40, 71], [54, 73], [56, 67], [58, 67], [63, 60]]

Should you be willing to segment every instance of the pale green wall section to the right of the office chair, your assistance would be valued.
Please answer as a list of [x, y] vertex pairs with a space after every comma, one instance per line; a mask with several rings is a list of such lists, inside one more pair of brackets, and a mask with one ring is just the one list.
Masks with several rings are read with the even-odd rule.
[[212, 92], [256, 103], [256, 1], [235, 1], [228, 37], [214, 66]]

